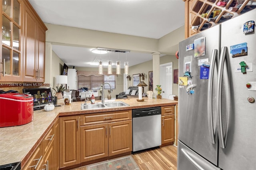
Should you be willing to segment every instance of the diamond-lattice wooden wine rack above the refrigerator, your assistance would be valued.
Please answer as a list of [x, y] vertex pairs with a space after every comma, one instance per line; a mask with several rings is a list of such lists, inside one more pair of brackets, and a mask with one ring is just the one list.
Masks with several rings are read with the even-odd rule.
[[[229, 15], [231, 18], [235, 18], [243, 14], [243, 9], [246, 5], [256, 5], [256, 0], [244, 0], [242, 6], [236, 12], [228, 11], [230, 4], [235, 0], [229, 0], [226, 6], [217, 6], [218, 2], [223, 0], [184, 0], [185, 1], [185, 38], [193, 36], [199, 32], [205, 23], [209, 23], [210, 27], [216, 26], [223, 22], [221, 20], [222, 16]], [[207, 16], [204, 18], [202, 14], [206, 13], [209, 10]], [[214, 22], [208, 22], [210, 14], [214, 10], [221, 10], [218, 18]], [[230, 19], [231, 19], [230, 18]], [[192, 29], [192, 26], [200, 27]]]

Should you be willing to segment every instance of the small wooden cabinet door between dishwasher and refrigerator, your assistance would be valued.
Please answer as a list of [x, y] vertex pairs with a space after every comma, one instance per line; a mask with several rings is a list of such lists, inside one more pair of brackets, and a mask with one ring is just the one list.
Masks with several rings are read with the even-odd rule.
[[166, 115], [162, 116], [162, 145], [172, 143], [174, 142], [175, 138], [175, 131], [174, 131], [174, 125], [175, 125], [175, 117], [174, 115]]

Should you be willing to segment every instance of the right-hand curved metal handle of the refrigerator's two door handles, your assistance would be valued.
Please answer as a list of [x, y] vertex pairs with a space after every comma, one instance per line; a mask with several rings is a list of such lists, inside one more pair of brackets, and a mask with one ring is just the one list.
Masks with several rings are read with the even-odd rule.
[[225, 57], [228, 52], [228, 47], [222, 47], [220, 52], [220, 63], [218, 68], [218, 79], [217, 79], [217, 118], [218, 118], [218, 136], [220, 147], [225, 148], [224, 134], [222, 127], [222, 78], [224, 71]]

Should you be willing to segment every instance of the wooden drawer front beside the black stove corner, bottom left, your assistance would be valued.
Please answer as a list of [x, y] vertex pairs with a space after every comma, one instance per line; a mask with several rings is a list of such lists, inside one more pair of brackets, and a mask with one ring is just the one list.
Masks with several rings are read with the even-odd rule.
[[27, 164], [24, 166], [24, 170], [38, 170], [41, 167], [43, 161], [41, 145], [36, 148], [31, 158], [28, 160]]

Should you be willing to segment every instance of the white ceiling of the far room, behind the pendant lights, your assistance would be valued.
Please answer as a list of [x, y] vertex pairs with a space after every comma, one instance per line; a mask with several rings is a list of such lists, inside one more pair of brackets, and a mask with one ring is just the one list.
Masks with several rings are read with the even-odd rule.
[[[69, 67], [98, 67], [97, 65], [90, 65], [91, 62], [98, 64], [98, 61], [102, 59], [104, 63], [108, 60], [112, 61], [113, 68], [115, 68], [116, 61], [121, 61], [121, 68], [124, 68], [124, 61], [129, 61], [129, 66], [143, 63], [152, 59], [152, 54], [149, 53], [136, 53], [131, 51], [130, 53], [116, 53], [108, 52], [106, 54], [92, 53], [93, 48], [86, 47], [74, 47], [74, 46], [62, 46], [52, 45], [52, 50], [66, 63]], [[161, 55], [163, 56], [163, 55]]]

